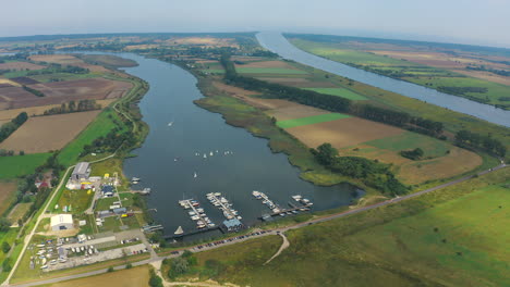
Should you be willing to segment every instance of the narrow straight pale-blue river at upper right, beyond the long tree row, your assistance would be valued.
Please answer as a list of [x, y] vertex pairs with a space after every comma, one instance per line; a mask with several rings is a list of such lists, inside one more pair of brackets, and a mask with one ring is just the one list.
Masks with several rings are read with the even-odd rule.
[[470, 114], [487, 122], [507, 127], [510, 126], [510, 111], [505, 111], [488, 104], [439, 92], [412, 83], [381, 76], [307, 53], [290, 43], [280, 33], [259, 33], [257, 34], [257, 39], [260, 45], [268, 50], [298, 63], [309, 65], [343, 77], [349, 77], [374, 87], [426, 101], [442, 108], [448, 108], [452, 111]]

